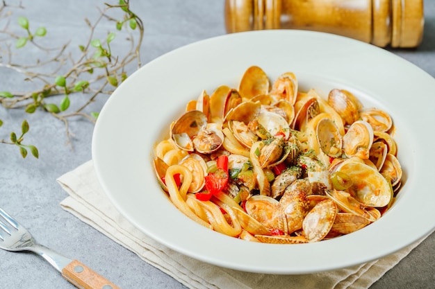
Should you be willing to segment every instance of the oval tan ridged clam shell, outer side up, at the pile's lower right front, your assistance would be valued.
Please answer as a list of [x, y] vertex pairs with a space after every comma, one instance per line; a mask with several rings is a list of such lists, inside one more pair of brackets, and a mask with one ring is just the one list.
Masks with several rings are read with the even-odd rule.
[[318, 242], [325, 238], [336, 219], [337, 206], [333, 200], [324, 200], [316, 204], [302, 222], [302, 229], [309, 242]]

